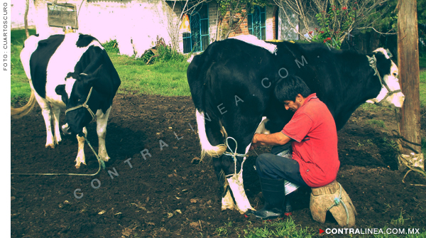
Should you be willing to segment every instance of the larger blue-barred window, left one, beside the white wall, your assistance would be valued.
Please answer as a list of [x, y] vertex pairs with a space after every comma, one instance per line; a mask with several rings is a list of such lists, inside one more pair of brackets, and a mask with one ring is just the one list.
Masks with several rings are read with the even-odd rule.
[[203, 4], [190, 15], [191, 33], [183, 33], [183, 53], [200, 52], [209, 45], [209, 7]]

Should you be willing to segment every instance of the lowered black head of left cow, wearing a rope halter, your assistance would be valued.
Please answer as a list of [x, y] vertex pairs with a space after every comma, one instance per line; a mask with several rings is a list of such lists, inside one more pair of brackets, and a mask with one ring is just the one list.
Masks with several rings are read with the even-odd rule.
[[[65, 122], [72, 135], [82, 136], [84, 126], [94, 119], [100, 104], [99, 93], [92, 90], [98, 77], [81, 73], [68, 73], [65, 85], [58, 85], [55, 92], [67, 105]], [[87, 106], [86, 106], [87, 105]]]

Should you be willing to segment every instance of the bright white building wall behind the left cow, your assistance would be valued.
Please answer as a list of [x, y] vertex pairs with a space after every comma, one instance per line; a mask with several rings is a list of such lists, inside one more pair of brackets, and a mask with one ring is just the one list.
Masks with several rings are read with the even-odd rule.
[[[63, 33], [62, 28], [48, 26], [48, 2], [51, 1], [35, 0], [37, 33]], [[121, 54], [133, 55], [135, 50], [137, 55], [141, 55], [153, 46], [157, 36], [170, 43], [166, 12], [169, 6], [164, 1], [58, 0], [56, 3], [65, 2], [77, 7], [78, 33], [90, 34], [101, 43], [116, 39]]]

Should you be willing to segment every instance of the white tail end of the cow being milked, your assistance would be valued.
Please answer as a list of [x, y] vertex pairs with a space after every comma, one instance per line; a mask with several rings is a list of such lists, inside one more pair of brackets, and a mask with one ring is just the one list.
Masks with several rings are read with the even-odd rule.
[[[219, 144], [217, 146], [212, 146], [212, 144], [210, 144], [209, 139], [207, 139], [204, 112], [199, 112], [197, 109], [195, 113], [197, 116], [198, 136], [200, 136], [201, 159], [203, 159], [206, 154], [212, 157], [222, 156], [226, 151], [226, 145]], [[221, 127], [222, 135], [226, 137], [226, 131], [222, 125]]]

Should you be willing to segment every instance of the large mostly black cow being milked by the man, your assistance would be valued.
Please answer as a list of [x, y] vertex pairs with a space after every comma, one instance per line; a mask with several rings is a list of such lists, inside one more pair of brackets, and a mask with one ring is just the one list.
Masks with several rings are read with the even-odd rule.
[[362, 55], [319, 43], [268, 45], [273, 49], [232, 38], [217, 41], [196, 55], [187, 69], [202, 157], [214, 157], [222, 210], [253, 210], [241, 173], [253, 134], [278, 132], [294, 114], [274, 96], [278, 80], [288, 75], [302, 78], [327, 105], [337, 129], [368, 99], [393, 107], [403, 104], [398, 67], [383, 48]]

